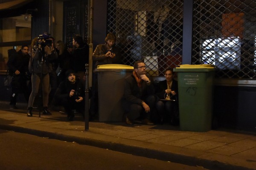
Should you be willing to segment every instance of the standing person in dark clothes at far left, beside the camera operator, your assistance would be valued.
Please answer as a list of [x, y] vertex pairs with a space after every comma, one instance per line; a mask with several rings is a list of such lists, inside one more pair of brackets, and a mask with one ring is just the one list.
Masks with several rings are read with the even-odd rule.
[[22, 45], [18, 52], [14, 52], [10, 55], [7, 61], [7, 66], [9, 68], [9, 74], [13, 76], [11, 86], [11, 100], [10, 109], [17, 109], [16, 101], [17, 95], [23, 92], [26, 101], [29, 101], [29, 88], [27, 86], [26, 72], [29, 72], [29, 46]]

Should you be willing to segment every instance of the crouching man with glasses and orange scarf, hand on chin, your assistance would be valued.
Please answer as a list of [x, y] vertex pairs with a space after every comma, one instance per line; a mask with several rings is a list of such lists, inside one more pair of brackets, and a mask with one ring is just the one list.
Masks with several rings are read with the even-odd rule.
[[133, 74], [125, 78], [122, 105], [125, 110], [126, 124], [141, 121], [143, 124], [154, 125], [150, 118], [154, 112], [155, 103], [154, 86], [150, 76], [146, 74], [145, 63], [136, 61]]

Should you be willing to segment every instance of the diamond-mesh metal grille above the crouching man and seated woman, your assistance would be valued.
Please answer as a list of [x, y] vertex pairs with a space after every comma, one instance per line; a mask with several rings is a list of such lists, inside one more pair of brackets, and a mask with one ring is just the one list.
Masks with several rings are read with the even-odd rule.
[[182, 0], [108, 0], [107, 23], [124, 64], [144, 60], [152, 76], [181, 64]]

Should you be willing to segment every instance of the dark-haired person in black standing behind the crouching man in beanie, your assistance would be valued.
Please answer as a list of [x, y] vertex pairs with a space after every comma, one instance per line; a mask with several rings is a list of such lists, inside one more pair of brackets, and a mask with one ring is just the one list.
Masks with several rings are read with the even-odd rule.
[[89, 46], [84, 43], [80, 35], [73, 36], [73, 52], [71, 68], [76, 72], [77, 78], [80, 78], [84, 84], [85, 81], [85, 64], [89, 63]]

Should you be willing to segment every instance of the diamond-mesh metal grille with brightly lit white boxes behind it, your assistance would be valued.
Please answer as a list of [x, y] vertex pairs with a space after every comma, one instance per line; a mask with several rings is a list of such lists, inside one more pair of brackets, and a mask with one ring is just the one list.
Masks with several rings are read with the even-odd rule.
[[194, 0], [192, 64], [219, 78], [256, 78], [256, 1]]

